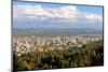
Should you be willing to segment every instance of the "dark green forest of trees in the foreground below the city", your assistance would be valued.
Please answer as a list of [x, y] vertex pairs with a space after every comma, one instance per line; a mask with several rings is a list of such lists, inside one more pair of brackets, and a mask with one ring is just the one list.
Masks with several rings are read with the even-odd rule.
[[14, 71], [104, 66], [103, 41], [64, 51], [31, 52], [13, 56]]

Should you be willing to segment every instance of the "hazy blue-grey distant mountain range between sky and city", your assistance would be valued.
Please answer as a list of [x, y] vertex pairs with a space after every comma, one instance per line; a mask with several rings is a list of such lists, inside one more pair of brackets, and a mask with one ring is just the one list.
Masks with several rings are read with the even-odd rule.
[[13, 34], [103, 34], [103, 30], [91, 28], [13, 28]]

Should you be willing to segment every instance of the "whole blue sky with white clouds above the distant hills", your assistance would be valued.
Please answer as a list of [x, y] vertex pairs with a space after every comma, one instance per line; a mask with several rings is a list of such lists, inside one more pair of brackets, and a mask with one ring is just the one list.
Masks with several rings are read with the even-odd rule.
[[103, 6], [13, 1], [13, 28], [103, 29]]

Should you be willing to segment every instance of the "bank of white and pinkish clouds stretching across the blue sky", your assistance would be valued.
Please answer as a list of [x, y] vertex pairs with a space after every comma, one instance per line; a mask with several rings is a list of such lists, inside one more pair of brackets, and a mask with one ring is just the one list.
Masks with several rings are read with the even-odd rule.
[[103, 17], [97, 14], [81, 12], [76, 5], [65, 5], [49, 8], [31, 4], [14, 4], [13, 17], [16, 20], [49, 20], [49, 21], [71, 21], [81, 23], [103, 23]]

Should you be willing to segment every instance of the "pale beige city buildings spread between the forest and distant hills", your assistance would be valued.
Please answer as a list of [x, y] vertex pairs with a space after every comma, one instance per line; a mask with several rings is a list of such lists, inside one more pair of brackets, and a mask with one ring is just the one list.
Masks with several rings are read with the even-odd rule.
[[49, 52], [54, 49], [69, 49], [72, 47], [81, 47], [91, 42], [102, 40], [102, 35], [73, 35], [73, 37], [53, 37], [39, 38], [35, 35], [13, 38], [13, 51], [21, 56], [29, 52]]

